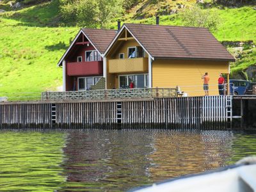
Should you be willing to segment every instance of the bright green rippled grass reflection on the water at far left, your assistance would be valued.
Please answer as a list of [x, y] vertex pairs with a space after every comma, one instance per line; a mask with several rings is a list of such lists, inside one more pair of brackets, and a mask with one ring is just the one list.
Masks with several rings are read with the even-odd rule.
[[65, 177], [61, 132], [0, 132], [0, 191], [53, 191]]

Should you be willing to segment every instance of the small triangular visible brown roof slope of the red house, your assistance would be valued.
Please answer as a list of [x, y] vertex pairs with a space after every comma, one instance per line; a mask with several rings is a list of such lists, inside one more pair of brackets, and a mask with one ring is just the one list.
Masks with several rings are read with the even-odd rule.
[[115, 30], [88, 28], [84, 28], [82, 30], [101, 54], [106, 51], [108, 45], [112, 42], [113, 38], [116, 35]]

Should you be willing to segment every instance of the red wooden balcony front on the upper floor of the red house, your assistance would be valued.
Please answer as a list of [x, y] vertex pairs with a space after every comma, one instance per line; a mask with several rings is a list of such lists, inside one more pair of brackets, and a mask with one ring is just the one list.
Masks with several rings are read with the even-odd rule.
[[68, 76], [90, 76], [103, 73], [103, 61], [67, 63]]

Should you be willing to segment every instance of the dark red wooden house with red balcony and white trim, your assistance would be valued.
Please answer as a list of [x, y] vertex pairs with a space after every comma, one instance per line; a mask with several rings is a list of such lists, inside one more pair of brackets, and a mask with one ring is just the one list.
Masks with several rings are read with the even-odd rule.
[[81, 29], [61, 57], [63, 91], [90, 90], [103, 76], [102, 55], [116, 35], [115, 30]]

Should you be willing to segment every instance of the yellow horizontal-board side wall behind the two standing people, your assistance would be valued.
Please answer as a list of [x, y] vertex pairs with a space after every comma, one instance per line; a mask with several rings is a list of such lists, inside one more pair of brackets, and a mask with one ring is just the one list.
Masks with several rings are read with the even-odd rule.
[[152, 87], [180, 86], [188, 96], [204, 95], [202, 76], [208, 72], [209, 94], [218, 95], [218, 77], [228, 73], [228, 61], [156, 60], [152, 63]]

